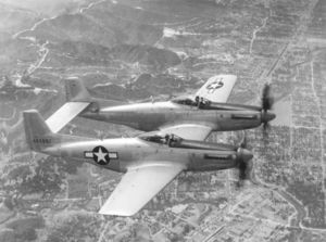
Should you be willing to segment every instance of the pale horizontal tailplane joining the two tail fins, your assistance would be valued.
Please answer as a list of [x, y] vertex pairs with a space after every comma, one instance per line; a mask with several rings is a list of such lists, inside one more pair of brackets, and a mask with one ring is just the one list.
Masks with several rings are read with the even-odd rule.
[[67, 123], [84, 111], [89, 102], [66, 102], [55, 113], [53, 113], [47, 120], [47, 125], [52, 132], [59, 132]]

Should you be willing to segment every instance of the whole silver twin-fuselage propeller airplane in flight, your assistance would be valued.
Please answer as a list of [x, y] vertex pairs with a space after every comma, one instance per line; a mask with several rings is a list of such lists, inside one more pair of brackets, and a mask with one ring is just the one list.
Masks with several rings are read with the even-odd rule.
[[[79, 80], [70, 79], [67, 102], [46, 122], [37, 111], [24, 112], [27, 142], [37, 152], [125, 173], [100, 213], [130, 216], [181, 171], [248, 171], [252, 154], [246, 145], [204, 141], [212, 131], [253, 128], [275, 117], [268, 88], [262, 106], [226, 103], [235, 82], [233, 75], [218, 75], [192, 97], [128, 104], [91, 98]], [[57, 133], [76, 116], [152, 132], [105, 140]]]

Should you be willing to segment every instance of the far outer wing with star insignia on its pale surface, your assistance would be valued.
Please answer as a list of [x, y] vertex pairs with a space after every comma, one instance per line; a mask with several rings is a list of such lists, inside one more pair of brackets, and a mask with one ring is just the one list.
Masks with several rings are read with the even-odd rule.
[[197, 91], [196, 97], [224, 103], [227, 101], [236, 81], [237, 76], [234, 75], [213, 76]]

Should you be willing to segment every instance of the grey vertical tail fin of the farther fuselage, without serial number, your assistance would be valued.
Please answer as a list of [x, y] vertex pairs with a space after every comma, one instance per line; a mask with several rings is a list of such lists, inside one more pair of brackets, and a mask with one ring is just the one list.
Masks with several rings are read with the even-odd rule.
[[91, 102], [91, 97], [77, 77], [65, 79], [65, 94], [67, 102]]

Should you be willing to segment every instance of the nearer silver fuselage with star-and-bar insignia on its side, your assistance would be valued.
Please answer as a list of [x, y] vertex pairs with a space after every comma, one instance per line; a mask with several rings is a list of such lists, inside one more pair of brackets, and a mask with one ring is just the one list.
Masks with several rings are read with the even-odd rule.
[[[140, 138], [120, 138], [105, 140], [68, 141], [49, 145], [42, 153], [63, 158], [87, 162], [92, 165], [125, 173], [129, 167], [143, 164], [176, 162], [185, 165], [186, 170], [216, 170], [233, 168], [238, 165], [239, 152], [233, 145], [221, 145], [193, 141], [200, 149], [172, 148], [167, 144], [145, 141]], [[214, 149], [213, 149], [214, 148]]]

